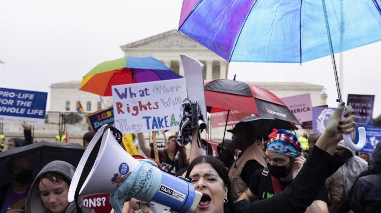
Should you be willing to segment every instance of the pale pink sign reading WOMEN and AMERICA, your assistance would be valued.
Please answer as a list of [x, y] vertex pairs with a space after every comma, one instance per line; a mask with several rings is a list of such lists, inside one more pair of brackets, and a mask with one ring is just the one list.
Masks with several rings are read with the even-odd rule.
[[312, 120], [312, 102], [309, 93], [281, 98], [300, 123]]

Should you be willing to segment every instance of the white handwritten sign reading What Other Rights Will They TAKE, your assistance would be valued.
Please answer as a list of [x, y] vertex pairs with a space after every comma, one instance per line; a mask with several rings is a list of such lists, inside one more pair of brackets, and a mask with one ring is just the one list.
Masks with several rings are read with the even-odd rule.
[[179, 127], [184, 78], [112, 86], [115, 127], [123, 134]]

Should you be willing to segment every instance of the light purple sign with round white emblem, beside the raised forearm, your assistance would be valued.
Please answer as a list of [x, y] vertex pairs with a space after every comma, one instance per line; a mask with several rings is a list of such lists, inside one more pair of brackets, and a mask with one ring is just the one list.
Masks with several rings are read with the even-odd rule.
[[336, 108], [312, 107], [312, 131], [322, 134]]

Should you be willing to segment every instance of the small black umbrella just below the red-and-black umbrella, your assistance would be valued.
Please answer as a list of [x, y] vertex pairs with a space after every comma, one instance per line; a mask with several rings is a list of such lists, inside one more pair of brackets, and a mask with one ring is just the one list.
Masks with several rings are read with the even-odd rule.
[[248, 122], [253, 125], [256, 138], [263, 141], [269, 139], [268, 136], [272, 133], [272, 129], [290, 130], [292, 127], [290, 122], [260, 116], [246, 116], [240, 122]]

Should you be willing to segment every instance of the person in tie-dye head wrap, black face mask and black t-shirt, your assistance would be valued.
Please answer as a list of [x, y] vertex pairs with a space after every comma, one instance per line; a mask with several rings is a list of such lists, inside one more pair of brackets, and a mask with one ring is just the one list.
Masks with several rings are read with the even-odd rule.
[[[276, 130], [269, 135], [267, 145], [267, 168], [256, 170], [250, 180], [249, 189], [239, 200], [263, 200], [282, 192], [293, 180], [305, 159], [300, 157], [301, 147], [295, 133], [288, 130]], [[328, 190], [324, 186], [315, 202], [307, 208], [327, 210]]]

